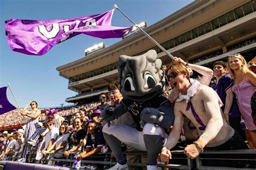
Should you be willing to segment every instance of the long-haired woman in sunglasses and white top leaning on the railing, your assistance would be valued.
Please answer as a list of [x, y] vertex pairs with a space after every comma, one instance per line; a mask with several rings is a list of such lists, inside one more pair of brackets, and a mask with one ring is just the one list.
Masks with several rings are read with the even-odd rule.
[[64, 159], [64, 150], [69, 138], [68, 125], [60, 125], [59, 132], [59, 136], [56, 139], [55, 143], [53, 143], [52, 146], [48, 150], [46, 150], [47, 153], [53, 154], [54, 159]]

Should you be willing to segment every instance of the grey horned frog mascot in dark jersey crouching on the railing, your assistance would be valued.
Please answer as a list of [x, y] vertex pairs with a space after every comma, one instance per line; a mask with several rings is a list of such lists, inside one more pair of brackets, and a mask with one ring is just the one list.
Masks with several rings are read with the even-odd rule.
[[[165, 90], [164, 72], [161, 60], [150, 50], [143, 55], [119, 58], [119, 83], [123, 100], [117, 107], [105, 107], [102, 120], [109, 122], [103, 127], [103, 134], [109, 144], [117, 165], [111, 169], [128, 169], [120, 143], [147, 152], [147, 169], [157, 169], [157, 157], [163, 147], [173, 123], [173, 112], [169, 101], [163, 96]], [[137, 124], [132, 128], [110, 121], [129, 112]]]

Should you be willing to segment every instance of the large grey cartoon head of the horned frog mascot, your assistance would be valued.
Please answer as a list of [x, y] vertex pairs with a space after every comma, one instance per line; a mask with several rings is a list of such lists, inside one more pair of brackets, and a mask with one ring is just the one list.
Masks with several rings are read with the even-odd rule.
[[142, 102], [164, 93], [161, 63], [154, 50], [138, 56], [121, 55], [118, 72], [123, 97]]

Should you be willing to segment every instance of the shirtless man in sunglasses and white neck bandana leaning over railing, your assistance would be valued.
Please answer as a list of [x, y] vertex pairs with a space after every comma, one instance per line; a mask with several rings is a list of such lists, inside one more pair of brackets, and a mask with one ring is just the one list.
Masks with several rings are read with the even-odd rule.
[[184, 117], [190, 119], [200, 135], [198, 140], [184, 149], [184, 153], [191, 159], [203, 152], [205, 146], [212, 150], [248, 148], [238, 133], [226, 123], [218, 102], [218, 94], [212, 88], [189, 79], [184, 65], [173, 64], [170, 68], [167, 77], [180, 93], [174, 106], [173, 129], [161, 150], [161, 160], [171, 159], [169, 150], [178, 142]]

